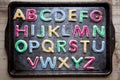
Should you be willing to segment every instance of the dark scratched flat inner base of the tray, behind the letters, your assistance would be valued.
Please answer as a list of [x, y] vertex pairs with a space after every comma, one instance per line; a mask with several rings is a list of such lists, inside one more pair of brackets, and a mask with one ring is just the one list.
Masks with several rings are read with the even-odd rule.
[[[16, 70], [32, 70], [31, 66], [28, 64], [27, 59], [26, 59], [26, 57], [28, 57], [28, 56], [30, 58], [32, 58], [32, 60], [34, 60], [36, 56], [39, 56], [39, 57], [42, 56], [44, 58], [44, 60], [47, 57], [53, 58], [54, 56], [56, 56], [57, 58], [62, 57], [63, 59], [66, 58], [66, 57], [69, 57], [69, 60], [67, 61], [67, 64], [70, 66], [70, 69], [66, 69], [65, 67], [62, 67], [59, 70], [58, 66], [60, 65], [60, 62], [57, 60], [55, 69], [53, 69], [53, 70], [56, 70], [56, 73], [59, 73], [59, 71], [62, 71], [62, 70], [63, 70], [63, 72], [65, 70], [66, 72], [71, 72], [72, 73], [75, 70], [75, 65], [74, 65], [74, 63], [72, 62], [72, 59], [71, 59], [72, 56], [74, 56], [76, 59], [79, 59], [79, 57], [94, 56], [96, 58], [96, 60], [91, 65], [91, 66], [95, 67], [94, 72], [97, 72], [97, 71], [98, 72], [99, 71], [104, 72], [105, 71], [106, 59], [107, 59], [106, 58], [106, 49], [101, 53], [93, 52], [93, 50], [92, 50], [92, 45], [93, 45], [92, 41], [95, 40], [97, 42], [97, 47], [96, 48], [100, 49], [102, 41], [106, 41], [106, 39], [101, 38], [98, 35], [95, 38], [93, 38], [92, 35], [90, 35], [90, 38], [87, 38], [86, 36], [81, 38], [78, 35], [76, 37], [73, 36], [73, 30], [74, 30], [75, 25], [79, 25], [81, 27], [81, 29], [82, 29], [83, 25], [88, 25], [89, 30], [90, 30], [90, 34], [92, 34], [92, 32], [93, 32], [93, 28], [92, 28], [93, 25], [97, 25], [98, 27], [105, 26], [106, 25], [106, 18], [105, 18], [106, 13], [105, 13], [105, 9], [103, 7], [87, 7], [87, 8], [86, 7], [60, 7], [60, 8], [59, 7], [51, 7], [51, 8], [49, 8], [49, 7], [38, 7], [38, 8], [37, 7], [29, 7], [29, 8], [33, 8], [33, 9], [37, 10], [37, 13], [36, 13], [37, 15], [39, 15], [41, 10], [44, 10], [44, 9], [51, 10], [52, 11], [51, 12], [52, 13], [51, 14], [52, 21], [44, 22], [44, 21], [41, 21], [39, 18], [37, 18], [37, 20], [35, 22], [24, 21], [22, 23], [21, 20], [15, 20], [14, 21], [14, 26], [20, 25], [20, 29], [23, 29], [24, 25], [28, 25], [28, 29], [29, 29], [29, 33], [28, 33], [29, 35], [28, 36], [29, 36], [29, 38], [24, 38], [24, 36], [21, 36], [23, 34], [20, 34], [20, 36], [18, 38], [14, 37], [14, 41], [17, 42], [18, 40], [23, 39], [23, 40], [27, 41], [27, 43], [28, 43], [29, 40], [36, 40], [36, 41], [38, 41], [40, 43], [40, 46], [41, 46], [42, 42], [44, 40], [48, 39], [48, 40], [51, 40], [54, 43], [54, 48], [53, 48], [54, 53], [45, 53], [43, 51], [42, 47], [39, 47], [38, 49], [33, 50], [32, 53], [30, 53], [29, 49], [28, 49], [27, 51], [25, 51], [23, 54], [20, 55], [20, 53], [16, 52], [16, 50], [14, 49], [15, 52], [12, 55], [15, 55], [14, 56], [14, 63], [15, 63], [15, 69]], [[26, 14], [25, 13], [26, 9], [29, 9], [29, 8], [28, 7], [24, 7], [24, 8], [19, 7], [19, 9], [21, 9], [24, 14]], [[65, 21], [63, 21], [63, 22], [55, 22], [54, 21], [54, 12], [57, 9], [64, 10], [64, 12], [66, 14]], [[70, 10], [70, 9], [76, 9], [77, 10], [76, 11], [76, 15], [77, 15], [76, 19], [77, 19], [77, 21], [75, 21], [75, 22], [69, 22], [68, 21], [68, 16], [67, 15], [68, 15], [68, 10]], [[79, 22], [79, 17], [78, 16], [79, 16], [79, 12], [81, 10], [87, 10], [88, 14], [90, 14], [90, 12], [92, 10], [95, 10], [95, 9], [100, 10], [100, 11], [103, 12], [104, 17], [103, 17], [101, 22], [96, 24], [93, 21], [91, 21], [90, 18], [88, 18], [86, 20], [84, 19], [82, 23]], [[16, 11], [16, 10], [14, 10], [14, 11]], [[45, 15], [45, 16], [47, 17], [47, 15]], [[32, 24], [35, 25], [35, 36], [34, 37], [32, 37], [30, 35], [30, 26]], [[39, 34], [40, 29], [41, 29], [39, 26], [41, 26], [41, 25], [45, 26], [45, 37], [44, 38], [37, 38], [36, 34]], [[60, 35], [59, 38], [57, 38], [54, 34], [53, 34], [53, 36], [51, 38], [48, 37], [48, 26], [49, 25], [52, 25], [53, 28], [56, 27], [56, 26], [60, 26], [60, 28], [57, 30], [57, 33]], [[62, 30], [61, 29], [62, 29], [63, 25], [66, 26], [66, 31], [67, 31], [68, 34], [70, 34], [70, 37], [63, 37], [62, 36], [62, 32], [61, 32]], [[14, 29], [14, 28], [12, 28], [12, 29]], [[15, 32], [14, 32], [14, 34], [15, 34]], [[16, 35], [14, 35], [14, 36], [16, 36]], [[66, 52], [63, 52], [62, 50], [60, 52], [57, 51], [57, 47], [56, 47], [57, 40], [65, 40], [66, 41], [66, 43], [67, 43], [67, 45], [65, 46]], [[78, 50], [75, 53], [69, 52], [69, 48], [70, 48], [69, 41], [70, 40], [77, 40]], [[90, 40], [90, 43], [87, 46], [87, 53], [86, 54], [83, 52], [83, 45], [80, 43], [81, 40]], [[15, 43], [13, 43], [13, 44], [15, 44]], [[47, 48], [49, 45], [45, 45], [45, 46]], [[29, 45], [28, 45], [28, 48], [29, 48]], [[81, 63], [79, 69], [75, 70], [75, 72], [84, 71], [83, 66], [85, 64], [86, 64], [86, 60], [83, 60], [83, 62]], [[39, 61], [37, 67], [35, 68], [35, 70], [45, 70], [46, 71], [46, 70], [52, 70], [52, 69], [50, 69], [50, 67], [48, 67], [46, 69], [42, 69], [41, 63]], [[92, 71], [88, 71], [88, 72], [92, 72]]]

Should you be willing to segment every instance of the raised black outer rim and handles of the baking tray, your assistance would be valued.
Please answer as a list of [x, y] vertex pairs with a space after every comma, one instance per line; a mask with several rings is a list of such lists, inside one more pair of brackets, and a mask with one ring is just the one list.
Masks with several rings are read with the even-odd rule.
[[[22, 4], [22, 5], [20, 5], [20, 4]], [[9, 3], [9, 5], [8, 5], [8, 23], [7, 23], [7, 27], [6, 27], [6, 31], [5, 31], [5, 36], [8, 36], [9, 35], [9, 39], [10, 39], [10, 32], [11, 32], [11, 29], [10, 29], [10, 19], [11, 19], [11, 16], [10, 16], [10, 12], [11, 12], [11, 9], [12, 9], [12, 7], [15, 7], [15, 5], [20, 5], [20, 6], [22, 6], [23, 7], [23, 5], [25, 5], [25, 4], [29, 4], [29, 5], [35, 5], [35, 6], [37, 6], [38, 4], [42, 4], [42, 5], [46, 5], [46, 4], [52, 4], [52, 7], [55, 7], [55, 6], [53, 6], [53, 5], [56, 5], [56, 2], [18, 2], [18, 1], [14, 1], [14, 2], [10, 2]], [[107, 3], [107, 2], [101, 2], [101, 3], [98, 3], [98, 2], [58, 2], [57, 3], [57, 5], [56, 5], [56, 7], [59, 7], [60, 5], [64, 5], [64, 6], [67, 6], [67, 5], [69, 5], [70, 7], [71, 6], [73, 6], [73, 7], [75, 7], [75, 6], [77, 6], [77, 7], [79, 7], [78, 5], [82, 5], [82, 6], [92, 6], [93, 7], [93, 5], [95, 6], [95, 7], [97, 7], [97, 6], [101, 6], [101, 7], [105, 7], [106, 8], [106, 6], [107, 6], [107, 8], [109, 9], [108, 11], [109, 11], [109, 25], [110, 25], [110, 29], [109, 29], [109, 39], [110, 39], [110, 41], [109, 41], [109, 43], [110, 44], [115, 44], [115, 31], [114, 31], [114, 28], [113, 28], [113, 25], [112, 25], [112, 10], [111, 10], [111, 5], [109, 4], [109, 3]], [[19, 6], [17, 6], [17, 7], [19, 7]], [[26, 6], [25, 6], [26, 7]], [[28, 6], [27, 6], [28, 7]], [[41, 6], [39, 6], [39, 7], [41, 7]], [[49, 7], [49, 6], [48, 6]], [[107, 16], [106, 16], [107, 17]], [[107, 18], [106, 18], [107, 19]], [[107, 23], [106, 23], [107, 24]], [[112, 29], [111, 29], [112, 28]], [[112, 32], [113, 32], [113, 34], [112, 34]], [[9, 34], [8, 34], [9, 33]], [[8, 35], [7, 35], [8, 34]], [[106, 31], [106, 34], [107, 34], [107, 31]], [[114, 36], [112, 36], [111, 37], [111, 35], [114, 35]], [[114, 37], [114, 39], [113, 39], [113, 37]], [[5, 37], [5, 40], [6, 40], [6, 37]], [[63, 74], [63, 73], [60, 73], [60, 74], [39, 74], [39, 75], [36, 75], [36, 74], [29, 74], [29, 75], [25, 75], [25, 74], [23, 74], [23, 75], [19, 75], [19, 74], [16, 74], [16, 72], [15, 71], [13, 71], [12, 69], [11, 69], [11, 57], [10, 57], [10, 54], [11, 54], [11, 52], [12, 52], [12, 50], [10, 50], [10, 45], [11, 45], [11, 43], [10, 42], [12, 42], [12, 41], [10, 41], [8, 44], [6, 44], [6, 42], [8, 42], [8, 41], [5, 41], [5, 48], [6, 48], [6, 52], [7, 52], [7, 54], [8, 54], [8, 73], [9, 73], [9, 75], [11, 75], [11, 76], [13, 76], [13, 77], [19, 77], [19, 76], [23, 76], [23, 77], [27, 77], [27, 76], [107, 76], [107, 75], [109, 75], [109, 74], [111, 74], [111, 72], [112, 72], [112, 54], [113, 54], [113, 51], [114, 51], [114, 46], [113, 46], [113, 48], [112, 48], [112, 46], [110, 46], [109, 47], [109, 61], [107, 61], [107, 62], [109, 62], [109, 65], [110, 65], [110, 67], [109, 67], [109, 71], [107, 71], [107, 72], [105, 72], [105, 73], [88, 73], [88, 74], [84, 74], [84, 73], [80, 73], [80, 74]], [[7, 45], [7, 46], [6, 46]], [[8, 47], [9, 46], [9, 47]], [[107, 50], [107, 49], [106, 49]], [[106, 51], [106, 53], [107, 53], [107, 51]], [[107, 60], [107, 59], [106, 59]]]

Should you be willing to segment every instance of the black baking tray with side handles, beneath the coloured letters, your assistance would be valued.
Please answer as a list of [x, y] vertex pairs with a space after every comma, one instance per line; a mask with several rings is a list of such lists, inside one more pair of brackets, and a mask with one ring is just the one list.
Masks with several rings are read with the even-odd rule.
[[[26, 14], [26, 9], [35, 9], [36, 14], [38, 15], [38, 18], [36, 21], [23, 21], [21, 19], [13, 20], [15, 11], [17, 9], [21, 9], [23, 14]], [[68, 19], [65, 19], [63, 22], [56, 23], [54, 21], [54, 13], [51, 14], [51, 18], [53, 19], [50, 22], [45, 22], [39, 19], [39, 13], [41, 10], [49, 9], [51, 11], [55, 11], [56, 9], [63, 10], [68, 18], [68, 10], [69, 9], [76, 9], [76, 15], [79, 15], [79, 11], [86, 10], [88, 13], [90, 13], [92, 10], [100, 10], [103, 12], [103, 19], [100, 22], [93, 22], [90, 20], [90, 18], [83, 19], [83, 22], [79, 22], [79, 16], [76, 18], [77, 20], [74, 22], [69, 22]], [[115, 48], [115, 30], [112, 24], [112, 12], [111, 12], [111, 5], [108, 3], [80, 3], [80, 2], [69, 2], [69, 3], [42, 3], [42, 2], [11, 2], [8, 6], [8, 23], [5, 30], [5, 49], [8, 55], [8, 73], [13, 77], [31, 77], [31, 76], [106, 76], [109, 75], [112, 72], [112, 54]], [[85, 14], [86, 15], [86, 14]], [[88, 14], [89, 17], [89, 14]], [[72, 28], [68, 27], [66, 31], [72, 33], [73, 26], [75, 24], [82, 26], [82, 25], [88, 25], [90, 33], [92, 32], [92, 26], [105, 26], [105, 37], [101, 38], [100, 36], [97, 36], [96, 38], [90, 37], [60, 37], [56, 38], [55, 36], [52, 36], [52, 38], [49, 38], [48, 36], [44, 36], [44, 38], [38, 39], [36, 36], [30, 36], [30, 33], [28, 34], [28, 37], [25, 38], [22, 33], [20, 33], [19, 37], [15, 37], [15, 25], [21, 26], [20, 28], [23, 29], [23, 25], [31, 26], [32, 24], [36, 26], [40, 25], [66, 25], [71, 26]], [[31, 28], [28, 28], [28, 32], [30, 32]], [[35, 30], [37, 30], [39, 27], [37, 27]], [[48, 29], [45, 27], [45, 35], [48, 34]], [[61, 33], [62, 32], [59, 32]], [[72, 34], [71, 34], [72, 35]], [[92, 33], [90, 34], [92, 35]], [[37, 40], [37, 41], [44, 41], [45, 39], [49, 39], [53, 41], [53, 43], [56, 43], [57, 40], [65, 40], [67, 42], [66, 52], [60, 52], [58, 53], [56, 50], [52, 53], [46, 53], [43, 52], [41, 49], [41, 45], [39, 49], [33, 50], [33, 53], [29, 52], [29, 48], [24, 53], [19, 53], [15, 49], [15, 43], [17, 40], [23, 39], [27, 43], [29, 40]], [[89, 47], [87, 47], [88, 51], [87, 53], [83, 52], [83, 46], [81, 46], [80, 43], [77, 43], [79, 46], [79, 50], [76, 53], [70, 53], [68, 51], [69, 48], [69, 41], [71, 39], [75, 39], [78, 42], [80, 40], [90, 40], [91, 42], [93, 40], [96, 40], [98, 45], [97, 48], [100, 48], [101, 41], [105, 41], [105, 49], [102, 53], [93, 52], [91, 50], [92, 43], [88, 44]], [[27, 44], [28, 45], [28, 44]], [[30, 47], [30, 46], [28, 46]], [[56, 48], [56, 46], [55, 46]], [[50, 66], [46, 68], [41, 68], [41, 63], [38, 62], [37, 66], [33, 69], [30, 67], [30, 65], [27, 62], [27, 57], [30, 57], [32, 61], [34, 61], [36, 56], [42, 56], [45, 60], [47, 57], [50, 57], [53, 59], [54, 56], [61, 57], [62, 59], [65, 59], [66, 57], [69, 58], [66, 63], [69, 65], [69, 69], [67, 69], [65, 66], [62, 66], [62, 68], [58, 69], [58, 66], [61, 64], [59, 60], [56, 62], [56, 66], [54, 69], [50, 69]], [[83, 59], [83, 61], [79, 64], [79, 68], [75, 68], [75, 64], [72, 62], [71, 57], [74, 56], [76, 59], [79, 57], [85, 58], [86, 56], [93, 56], [95, 57], [95, 61], [90, 65], [94, 67], [94, 70], [86, 70], [84, 69], [84, 65], [87, 63], [88, 60]]]

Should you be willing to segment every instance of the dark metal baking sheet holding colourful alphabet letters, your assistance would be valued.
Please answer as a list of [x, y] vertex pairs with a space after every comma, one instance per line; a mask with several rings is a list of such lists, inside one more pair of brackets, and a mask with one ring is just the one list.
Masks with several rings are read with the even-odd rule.
[[[13, 19], [17, 9], [20, 9], [24, 14], [25, 18], [27, 18], [27, 9], [36, 10], [37, 19], [34, 21], [22, 20], [22, 19]], [[43, 10], [50, 10], [50, 12], [46, 13], [44, 17], [51, 18], [51, 21], [42, 21], [40, 19], [40, 12]], [[76, 19], [76, 21], [69, 21], [69, 10], [76, 10], [73, 14], [76, 17], [72, 17]], [[65, 19], [61, 22], [55, 21], [55, 11], [62, 10]], [[102, 12], [102, 20], [100, 22], [94, 22], [90, 18], [90, 13], [94, 10], [99, 10]], [[80, 22], [80, 11], [88, 11], [87, 18], [83, 18], [83, 22]], [[58, 14], [57, 16], [60, 19], [62, 14]], [[95, 16], [99, 16], [99, 14], [95, 14]], [[16, 25], [19, 25], [19, 30], [24, 29], [25, 25], [28, 25], [28, 37], [24, 36], [24, 32], [19, 32], [19, 36], [16, 37]], [[34, 35], [32, 35], [32, 25], [34, 25]], [[41, 25], [44, 26], [44, 36], [37, 37], [41, 32]], [[59, 34], [59, 37], [53, 33], [52, 37], [49, 36], [49, 26], [55, 28], [56, 26], [60, 26], [56, 32]], [[87, 37], [87, 33], [84, 34], [83, 37], [79, 36], [79, 33], [76, 33], [76, 37], [74, 36], [75, 25], [78, 25], [81, 29], [84, 25], [88, 26], [89, 29], [89, 37]], [[96, 37], [93, 37], [93, 26], [97, 25], [99, 28], [101, 26], [105, 26], [105, 37], [100, 37], [98, 34]], [[63, 28], [65, 26], [65, 28]], [[65, 29], [64, 31], [62, 29]], [[101, 28], [102, 30], [102, 28]], [[66, 31], [69, 36], [64, 35], [63, 33]], [[18, 52], [15, 44], [17, 41], [23, 40], [27, 44], [27, 49], [24, 52]], [[54, 52], [45, 52], [43, 50], [43, 41], [49, 40], [54, 46]], [[70, 41], [76, 40], [76, 44], [78, 46], [78, 50], [76, 52], [70, 52], [69, 49], [73, 48], [70, 46]], [[87, 52], [84, 52], [84, 45], [80, 43], [82, 40], [89, 40], [90, 42], [87, 44]], [[32, 46], [36, 46], [39, 44], [39, 47], [33, 48], [32, 52], [30, 52], [30, 41], [36, 41], [32, 44]], [[44, 45], [44, 48], [48, 49], [51, 46], [49, 41]], [[65, 41], [66, 45], [63, 51], [60, 48], [60, 52], [58, 51], [58, 43], [59, 41]], [[102, 41], [105, 42], [105, 48], [102, 52], [95, 52], [93, 47], [93, 41], [96, 41], [96, 49], [100, 49], [102, 45]], [[61, 43], [62, 44], [62, 43]], [[5, 48], [8, 54], [8, 72], [11, 76], [96, 76], [96, 75], [108, 75], [112, 71], [112, 53], [114, 51], [115, 46], [115, 31], [112, 25], [112, 17], [111, 17], [111, 7], [108, 3], [31, 3], [31, 2], [12, 2], [8, 7], [8, 24], [5, 31]], [[23, 44], [19, 45], [19, 49], [23, 48]], [[38, 57], [38, 62], [36, 66], [32, 67], [28, 58], [34, 63], [35, 58]], [[65, 60], [67, 68], [59, 58]], [[75, 62], [72, 60], [74, 57], [76, 60], [79, 58], [83, 58], [76, 68]], [[90, 61], [90, 59], [85, 59], [85, 57], [94, 57], [95, 60], [88, 66], [93, 67], [94, 69], [86, 69], [85, 65]], [[45, 67], [46, 59], [50, 58], [52, 64], [54, 64], [54, 68], [52, 68], [49, 64]], [[42, 63], [43, 61], [43, 63]], [[46, 62], [47, 63], [47, 62]], [[62, 65], [61, 68], [60, 65]]]

